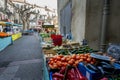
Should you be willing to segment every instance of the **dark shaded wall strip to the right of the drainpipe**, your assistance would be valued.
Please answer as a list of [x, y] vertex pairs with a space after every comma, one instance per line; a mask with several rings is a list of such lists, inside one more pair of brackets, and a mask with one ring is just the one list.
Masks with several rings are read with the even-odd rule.
[[120, 0], [111, 0], [107, 41], [120, 43]]

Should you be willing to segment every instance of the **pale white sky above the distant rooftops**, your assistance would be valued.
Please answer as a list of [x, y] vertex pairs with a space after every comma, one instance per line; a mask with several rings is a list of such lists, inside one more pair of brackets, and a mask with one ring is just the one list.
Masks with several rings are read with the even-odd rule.
[[31, 4], [37, 4], [38, 6], [48, 6], [52, 9], [57, 9], [57, 0], [26, 0]]

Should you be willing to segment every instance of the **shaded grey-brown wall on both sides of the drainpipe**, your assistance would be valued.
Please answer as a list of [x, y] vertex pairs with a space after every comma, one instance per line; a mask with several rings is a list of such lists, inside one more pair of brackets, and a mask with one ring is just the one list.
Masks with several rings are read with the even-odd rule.
[[[111, 0], [110, 14], [106, 32], [106, 44], [120, 43], [120, 1]], [[94, 49], [100, 47], [103, 0], [87, 0], [85, 38]]]

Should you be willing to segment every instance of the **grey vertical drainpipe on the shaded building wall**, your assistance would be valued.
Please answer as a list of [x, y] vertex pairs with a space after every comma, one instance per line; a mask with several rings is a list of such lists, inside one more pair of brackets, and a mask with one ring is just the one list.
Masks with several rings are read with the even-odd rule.
[[101, 26], [101, 41], [100, 41], [100, 50], [102, 52], [106, 51], [106, 34], [108, 27], [108, 19], [110, 14], [110, 0], [104, 0], [103, 8], [103, 17], [102, 17], [102, 26]]

